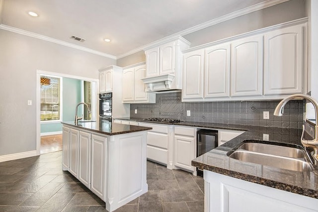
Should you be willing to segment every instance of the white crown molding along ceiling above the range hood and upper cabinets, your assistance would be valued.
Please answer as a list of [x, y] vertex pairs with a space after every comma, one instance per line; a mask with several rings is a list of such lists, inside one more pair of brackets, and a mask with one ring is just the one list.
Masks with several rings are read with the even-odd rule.
[[251, 12], [255, 12], [255, 11], [258, 11], [258, 10], [261, 10], [261, 9], [264, 9], [264, 8], [267, 8], [267, 7], [270, 7], [270, 6], [279, 4], [279, 3], [283, 3], [285, 1], [288, 1], [288, 0], [267, 0], [267, 1], [264, 1], [264, 2], [260, 2], [260, 3], [257, 3], [257, 4], [251, 5], [249, 7], [237, 10], [235, 12], [223, 15], [221, 17], [214, 18], [212, 20], [209, 20], [209, 21], [206, 21], [204, 23], [198, 24], [198, 25], [193, 26], [191, 28], [188, 28], [188, 29], [185, 29], [183, 31], [177, 32], [177, 33], [175, 33], [173, 35], [170, 35], [168, 37], [164, 37], [164, 38], [159, 39], [159, 40], [157, 40], [155, 42], [152, 42], [152, 43], [149, 43], [147, 45], [141, 46], [141, 47], [139, 47], [137, 49], [133, 49], [133, 50], [131, 50], [129, 52], [126, 52], [124, 54], [120, 54], [120, 55], [117, 56], [117, 59], [120, 59], [120, 58], [129, 56], [131, 54], [137, 53], [137, 52], [139, 52], [141, 50], [149, 48], [150, 46], [154, 46], [154, 45], [159, 44], [159, 43], [167, 42], [168, 40], [174, 39], [174, 38], [176, 38], [178, 36], [184, 36], [184, 35], [190, 34], [192, 32], [196, 32], [198, 30], [207, 28], [209, 26], [213, 26], [213, 25], [216, 25], [218, 23], [221, 23], [221, 22], [224, 22], [224, 21], [239, 17], [241, 15], [245, 15], [245, 14], [248, 14], [248, 13], [251, 13]]

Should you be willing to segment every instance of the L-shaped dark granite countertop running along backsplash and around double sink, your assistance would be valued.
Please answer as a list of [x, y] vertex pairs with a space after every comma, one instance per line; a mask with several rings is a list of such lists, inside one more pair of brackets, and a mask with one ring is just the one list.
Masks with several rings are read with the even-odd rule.
[[[118, 118], [152, 123], [142, 118]], [[235, 177], [252, 183], [312, 197], [318, 199], [318, 170], [306, 172], [290, 171], [260, 164], [247, 163], [228, 157], [243, 142], [263, 142], [269, 144], [293, 146], [304, 149], [301, 142], [301, 129], [261, 127], [236, 124], [219, 124], [206, 122], [182, 121], [163, 123], [182, 126], [193, 126], [213, 129], [244, 130], [236, 138], [207, 152], [194, 160], [192, 165], [200, 169]], [[263, 134], [269, 135], [269, 141], [263, 141]]]

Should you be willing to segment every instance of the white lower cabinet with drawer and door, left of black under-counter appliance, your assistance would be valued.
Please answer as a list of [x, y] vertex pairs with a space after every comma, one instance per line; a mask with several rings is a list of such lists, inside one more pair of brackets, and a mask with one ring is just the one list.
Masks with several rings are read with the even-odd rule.
[[174, 127], [174, 166], [187, 171], [195, 171], [191, 161], [196, 158], [195, 154], [195, 128]]

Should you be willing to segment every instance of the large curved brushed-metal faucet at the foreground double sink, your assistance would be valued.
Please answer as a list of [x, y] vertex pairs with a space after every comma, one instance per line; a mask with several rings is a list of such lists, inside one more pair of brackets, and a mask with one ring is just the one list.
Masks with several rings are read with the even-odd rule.
[[304, 94], [294, 94], [289, 97], [283, 99], [274, 110], [274, 115], [282, 116], [284, 112], [284, 106], [290, 100], [308, 100], [314, 105], [315, 113], [316, 113], [316, 125], [315, 125], [315, 138], [313, 140], [305, 140], [304, 139], [304, 132], [305, 132], [305, 125], [303, 124], [303, 132], [300, 141], [305, 147], [312, 147], [314, 151], [312, 151], [312, 156], [315, 159], [315, 165], [318, 164], [318, 103], [317, 101], [312, 98], [311, 96], [304, 95]]

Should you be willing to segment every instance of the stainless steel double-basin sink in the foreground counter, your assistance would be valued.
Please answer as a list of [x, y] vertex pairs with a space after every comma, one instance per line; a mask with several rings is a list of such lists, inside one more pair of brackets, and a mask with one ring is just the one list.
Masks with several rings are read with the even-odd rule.
[[264, 143], [244, 143], [230, 158], [280, 169], [306, 172], [313, 166], [307, 162], [304, 150]]

